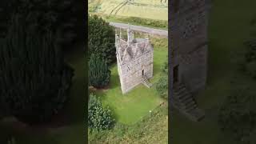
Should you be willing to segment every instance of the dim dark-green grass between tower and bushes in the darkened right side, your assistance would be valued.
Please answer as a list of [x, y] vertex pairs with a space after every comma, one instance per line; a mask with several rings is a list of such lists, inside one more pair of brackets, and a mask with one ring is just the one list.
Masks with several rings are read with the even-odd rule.
[[[175, 144], [233, 143], [218, 128], [218, 108], [231, 88], [256, 86], [256, 82], [238, 72], [244, 52], [242, 42], [250, 34], [250, 20], [255, 18], [256, 2], [214, 0], [210, 11], [209, 63], [206, 90], [197, 95], [199, 107], [206, 111], [202, 122], [191, 122], [174, 110], [170, 123]], [[236, 83], [234, 83], [236, 81]]]

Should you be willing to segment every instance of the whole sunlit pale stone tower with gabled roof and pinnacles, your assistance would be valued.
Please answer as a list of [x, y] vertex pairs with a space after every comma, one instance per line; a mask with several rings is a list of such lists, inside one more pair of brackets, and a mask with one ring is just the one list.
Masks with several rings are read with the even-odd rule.
[[127, 40], [122, 32], [115, 34], [116, 57], [122, 94], [138, 84], [152, 86], [148, 78], [153, 76], [154, 49], [149, 38], [134, 38], [134, 32], [127, 29]]

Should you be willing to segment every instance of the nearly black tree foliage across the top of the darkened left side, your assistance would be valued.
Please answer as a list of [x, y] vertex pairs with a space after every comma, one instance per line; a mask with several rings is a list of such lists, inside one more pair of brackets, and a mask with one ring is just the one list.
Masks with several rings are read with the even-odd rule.
[[26, 20], [38, 21], [42, 31], [50, 30], [61, 46], [70, 46], [82, 31], [79, 24], [78, 2], [72, 0], [3, 0], [0, 6], [1, 23], [3, 30], [0, 36], [5, 37], [10, 25], [12, 14], [27, 15]]

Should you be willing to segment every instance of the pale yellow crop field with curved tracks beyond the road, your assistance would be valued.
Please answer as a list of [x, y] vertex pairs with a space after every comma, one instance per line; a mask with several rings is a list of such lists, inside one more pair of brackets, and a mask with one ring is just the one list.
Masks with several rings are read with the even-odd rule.
[[130, 4], [126, 0], [90, 0], [88, 7], [90, 13], [168, 20], [168, 1], [165, 0], [140, 0]]

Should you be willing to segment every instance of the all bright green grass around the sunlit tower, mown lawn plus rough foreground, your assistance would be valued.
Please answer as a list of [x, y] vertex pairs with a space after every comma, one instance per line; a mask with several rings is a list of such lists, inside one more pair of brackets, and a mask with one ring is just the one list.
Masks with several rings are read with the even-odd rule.
[[[141, 34], [134, 34], [135, 37]], [[167, 61], [167, 38], [150, 38], [154, 44], [155, 83], [162, 75], [161, 66]], [[122, 94], [116, 64], [111, 67], [110, 87], [96, 90], [105, 106], [114, 111], [117, 123], [113, 130], [92, 131], [89, 143], [167, 143], [168, 109], [166, 100], [160, 98], [155, 87], [139, 85]], [[165, 102], [163, 106], [159, 106]], [[150, 110], [152, 113], [150, 114]]]

